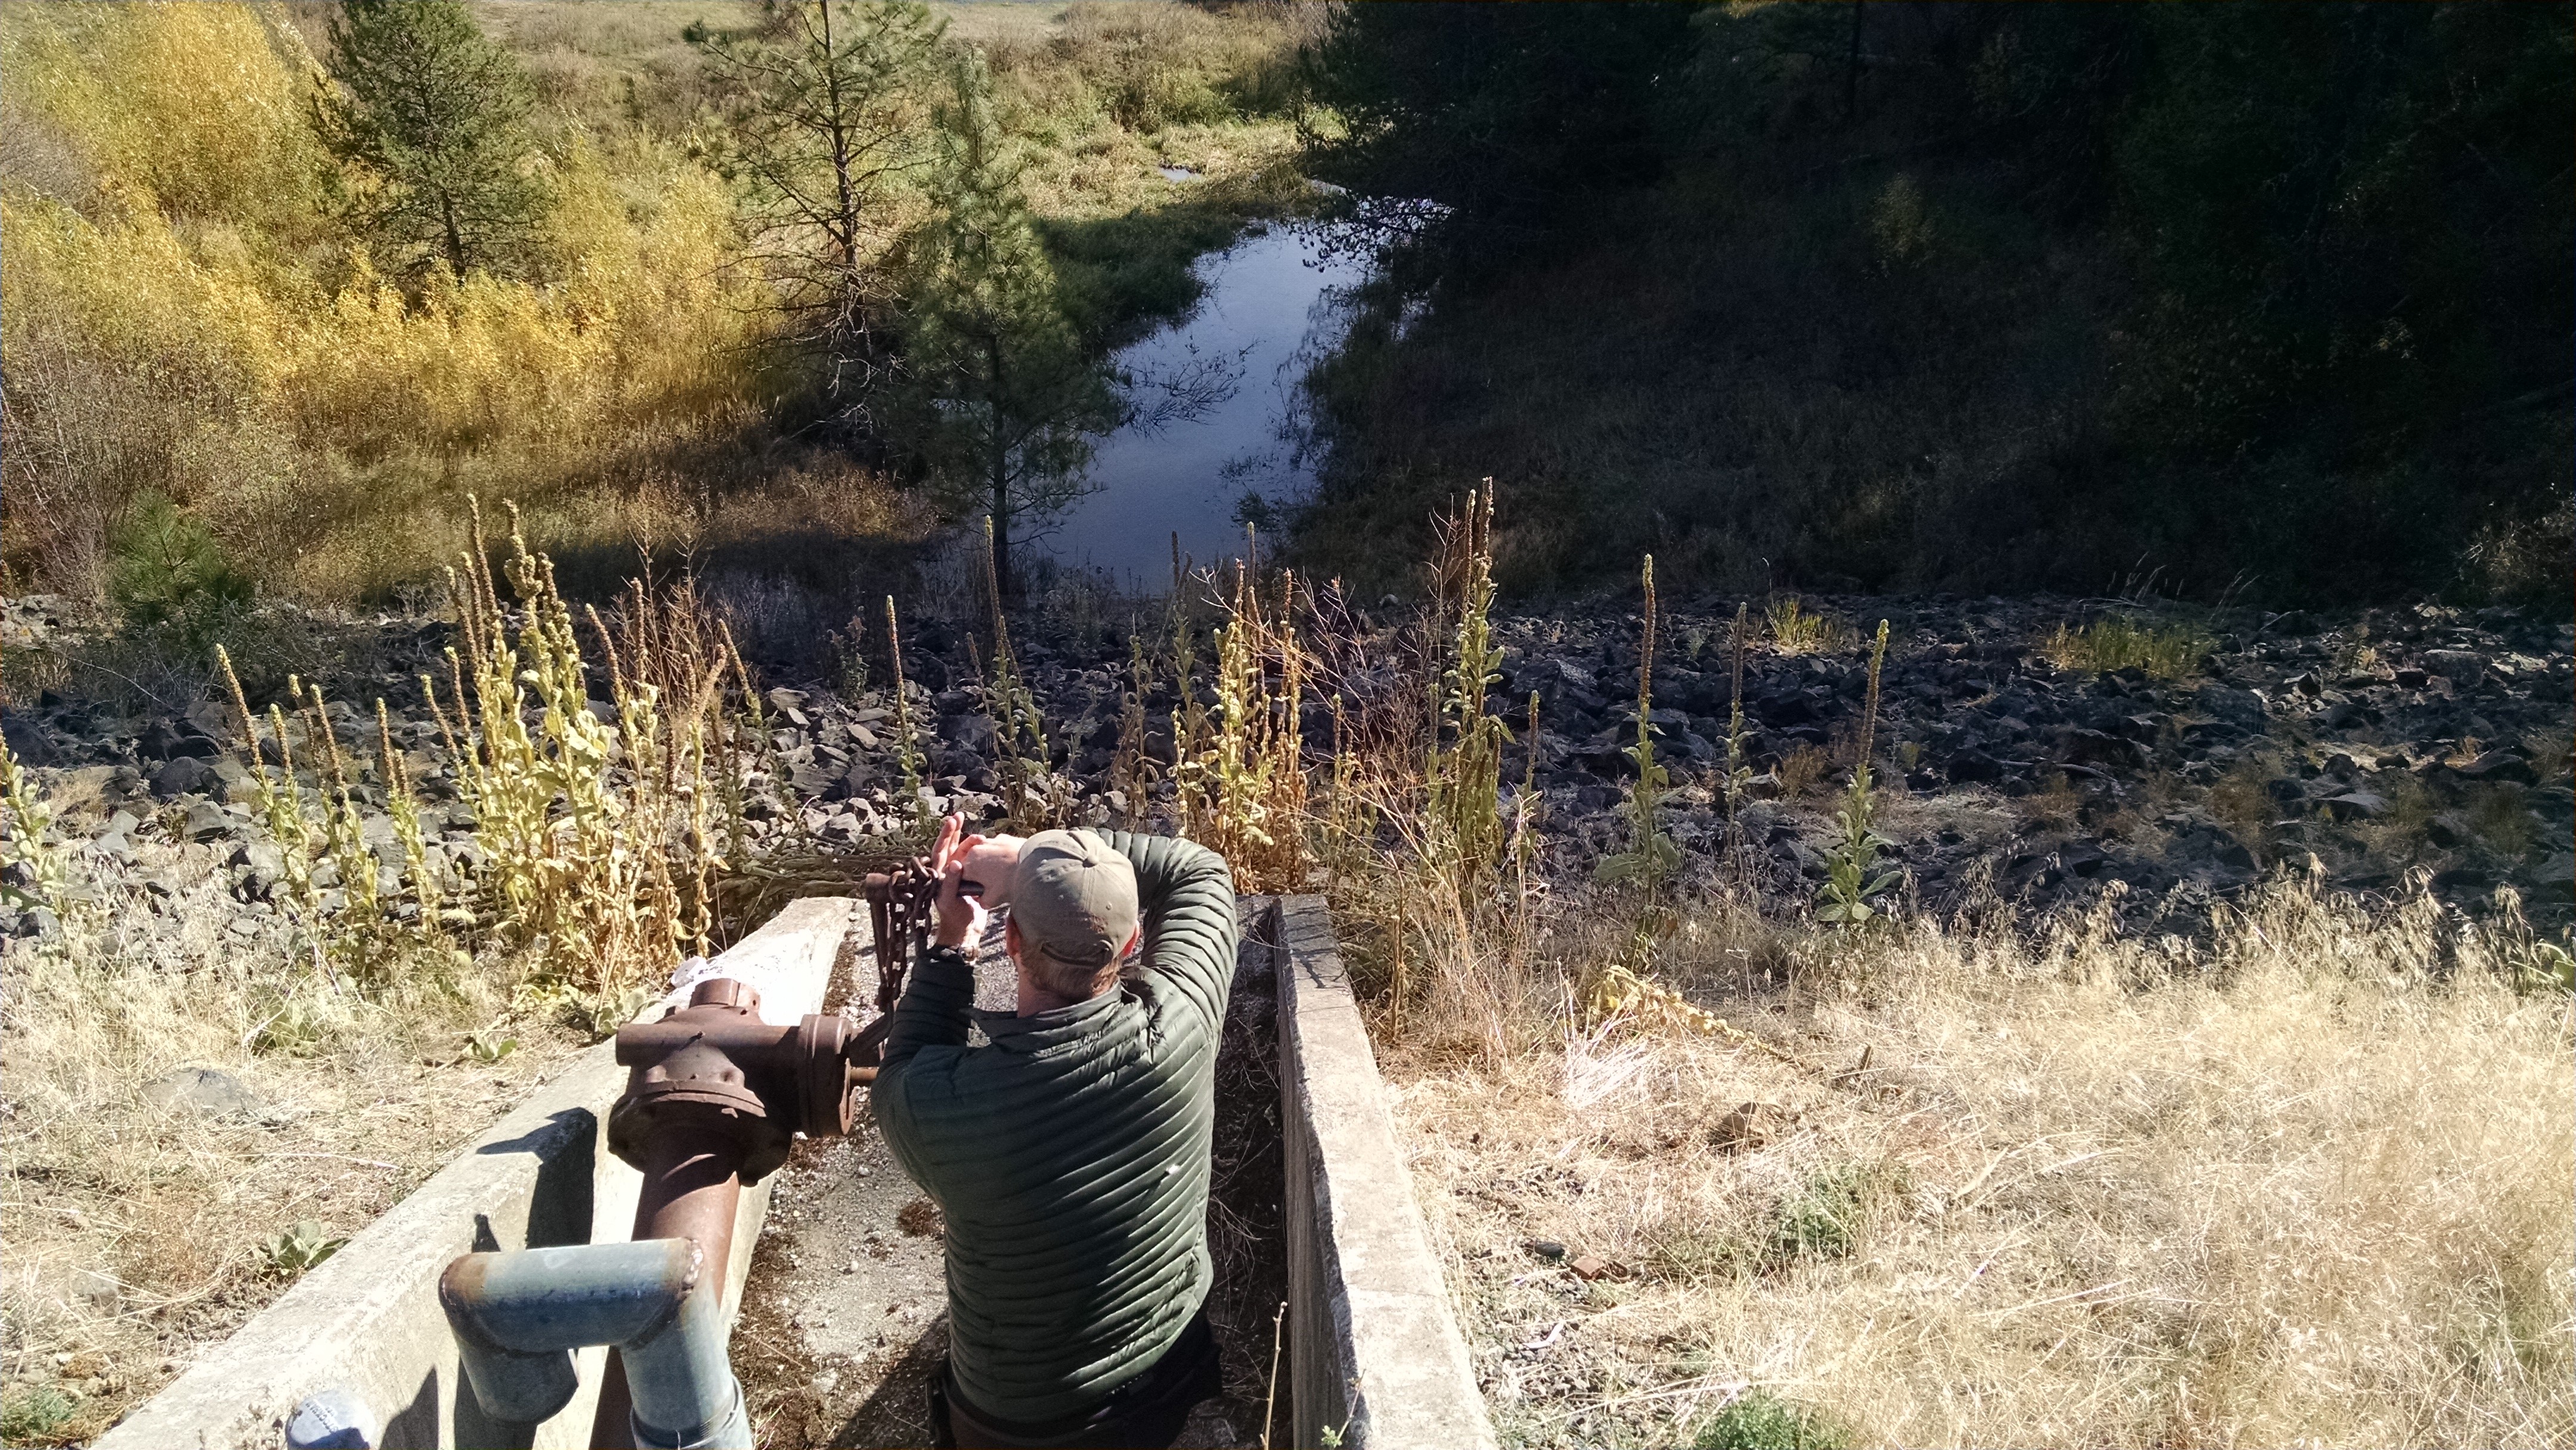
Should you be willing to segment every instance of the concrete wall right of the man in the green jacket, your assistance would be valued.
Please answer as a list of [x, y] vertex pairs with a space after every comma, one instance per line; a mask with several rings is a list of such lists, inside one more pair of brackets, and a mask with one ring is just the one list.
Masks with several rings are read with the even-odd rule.
[[1489, 1447], [1324, 899], [1280, 896], [1265, 935], [1280, 979], [1293, 1442], [1332, 1429], [1373, 1450]]

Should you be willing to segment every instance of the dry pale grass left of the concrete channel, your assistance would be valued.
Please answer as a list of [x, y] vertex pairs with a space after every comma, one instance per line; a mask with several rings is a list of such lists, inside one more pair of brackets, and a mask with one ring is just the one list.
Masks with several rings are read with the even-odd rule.
[[[142, 847], [139, 865], [204, 876], [209, 855]], [[484, 1064], [466, 1033], [495, 1022], [502, 989], [482, 971], [361, 1002], [312, 976], [309, 956], [227, 935], [219, 891], [198, 881], [155, 907], [113, 883], [72, 912], [59, 948], [18, 940], [0, 966], [13, 1445], [111, 1424], [291, 1283], [263, 1244], [304, 1221], [327, 1236], [366, 1226], [580, 1046], [515, 1020], [518, 1048]], [[240, 1077], [265, 1113], [142, 1100], [180, 1066]], [[118, 1285], [113, 1308], [80, 1293], [100, 1288], [90, 1275]]]

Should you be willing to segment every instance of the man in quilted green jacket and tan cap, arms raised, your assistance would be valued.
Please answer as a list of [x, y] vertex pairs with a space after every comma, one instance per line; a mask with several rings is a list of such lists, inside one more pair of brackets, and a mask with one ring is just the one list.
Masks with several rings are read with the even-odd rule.
[[[966, 837], [958, 816], [933, 865], [938, 940], [871, 1105], [948, 1223], [938, 1442], [1170, 1445], [1218, 1393], [1203, 1306], [1234, 878], [1185, 840]], [[1018, 1012], [971, 1010], [987, 907], [1010, 909]]]

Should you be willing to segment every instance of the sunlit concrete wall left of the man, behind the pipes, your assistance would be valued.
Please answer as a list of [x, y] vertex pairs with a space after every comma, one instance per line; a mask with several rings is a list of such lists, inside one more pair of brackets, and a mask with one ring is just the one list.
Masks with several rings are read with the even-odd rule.
[[[845, 945], [853, 937], [866, 945], [866, 935], [868, 914], [845, 896], [793, 901], [716, 958], [714, 974], [750, 981], [765, 1020], [796, 1025], [822, 1007]], [[659, 1017], [677, 997], [644, 1015]], [[438, 1275], [474, 1249], [626, 1241], [644, 1180], [608, 1154], [608, 1107], [626, 1089], [613, 1053], [613, 1043], [600, 1043], [574, 1056], [482, 1141], [108, 1429], [95, 1450], [276, 1450], [296, 1404], [317, 1391], [361, 1404], [381, 1427], [376, 1445], [587, 1445], [605, 1350], [577, 1355], [582, 1391], [533, 1435], [492, 1424], [471, 1391], [459, 1393]], [[726, 1316], [739, 1306], [768, 1198], [768, 1180], [742, 1195]]]

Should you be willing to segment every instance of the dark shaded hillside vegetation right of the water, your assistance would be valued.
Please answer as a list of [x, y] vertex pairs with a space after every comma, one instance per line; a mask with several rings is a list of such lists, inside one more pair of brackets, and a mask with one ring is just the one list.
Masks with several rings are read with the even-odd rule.
[[1311, 75], [1316, 175], [1448, 209], [1309, 379], [1324, 572], [1494, 476], [1520, 587], [2566, 608], [2563, 8], [1352, 5]]

